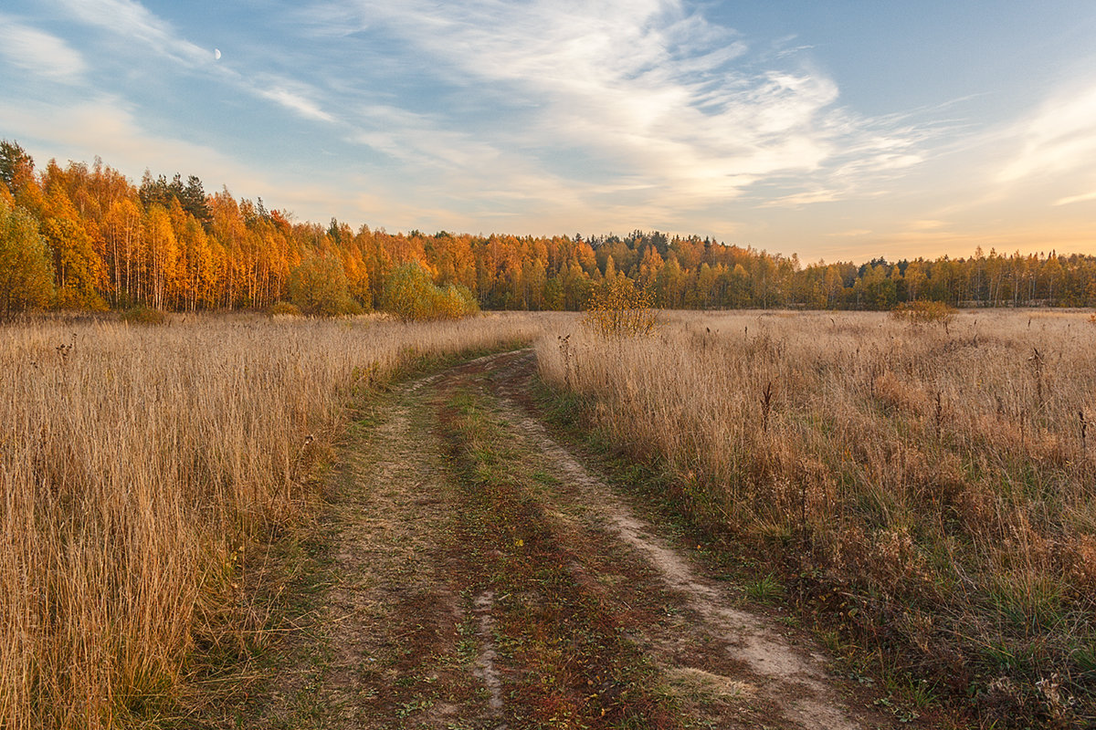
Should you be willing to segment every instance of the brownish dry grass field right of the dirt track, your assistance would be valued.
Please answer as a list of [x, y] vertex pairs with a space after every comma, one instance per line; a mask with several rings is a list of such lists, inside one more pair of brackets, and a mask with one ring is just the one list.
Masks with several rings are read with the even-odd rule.
[[1096, 722], [1088, 313], [664, 317], [545, 338], [543, 374], [922, 696], [986, 725]]

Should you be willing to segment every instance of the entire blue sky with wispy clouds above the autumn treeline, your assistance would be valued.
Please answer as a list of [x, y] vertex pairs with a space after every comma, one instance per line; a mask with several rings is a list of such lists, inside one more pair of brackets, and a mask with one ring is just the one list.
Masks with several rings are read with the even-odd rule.
[[390, 232], [1096, 254], [1091, 0], [5, 0], [0, 139]]

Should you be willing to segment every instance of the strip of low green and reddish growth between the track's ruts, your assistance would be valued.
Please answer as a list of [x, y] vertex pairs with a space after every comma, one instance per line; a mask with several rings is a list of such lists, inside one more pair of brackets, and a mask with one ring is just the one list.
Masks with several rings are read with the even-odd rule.
[[486, 401], [457, 392], [441, 422], [465, 489], [454, 549], [480, 576], [469, 590], [494, 596], [507, 719], [521, 728], [680, 727], [626, 619], [574, 575], [574, 556], [533, 496], [525, 455]]

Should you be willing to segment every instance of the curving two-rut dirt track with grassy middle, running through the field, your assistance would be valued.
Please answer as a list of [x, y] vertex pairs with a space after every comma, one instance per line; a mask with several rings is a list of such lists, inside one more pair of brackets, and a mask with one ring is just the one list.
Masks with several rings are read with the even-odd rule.
[[555, 440], [534, 376], [528, 351], [489, 356], [362, 415], [317, 526], [315, 609], [243, 727], [893, 722]]

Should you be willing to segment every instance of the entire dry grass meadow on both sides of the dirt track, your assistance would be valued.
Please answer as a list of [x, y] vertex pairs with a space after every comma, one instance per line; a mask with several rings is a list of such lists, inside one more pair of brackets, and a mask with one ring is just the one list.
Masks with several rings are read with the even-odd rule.
[[307, 519], [354, 404], [517, 343], [747, 566], [747, 593], [797, 603], [866, 682], [984, 727], [1093, 721], [1088, 313], [659, 320], [632, 338], [532, 313], [3, 325], [0, 726], [139, 722], [195, 652], [261, 634], [249, 560]]

